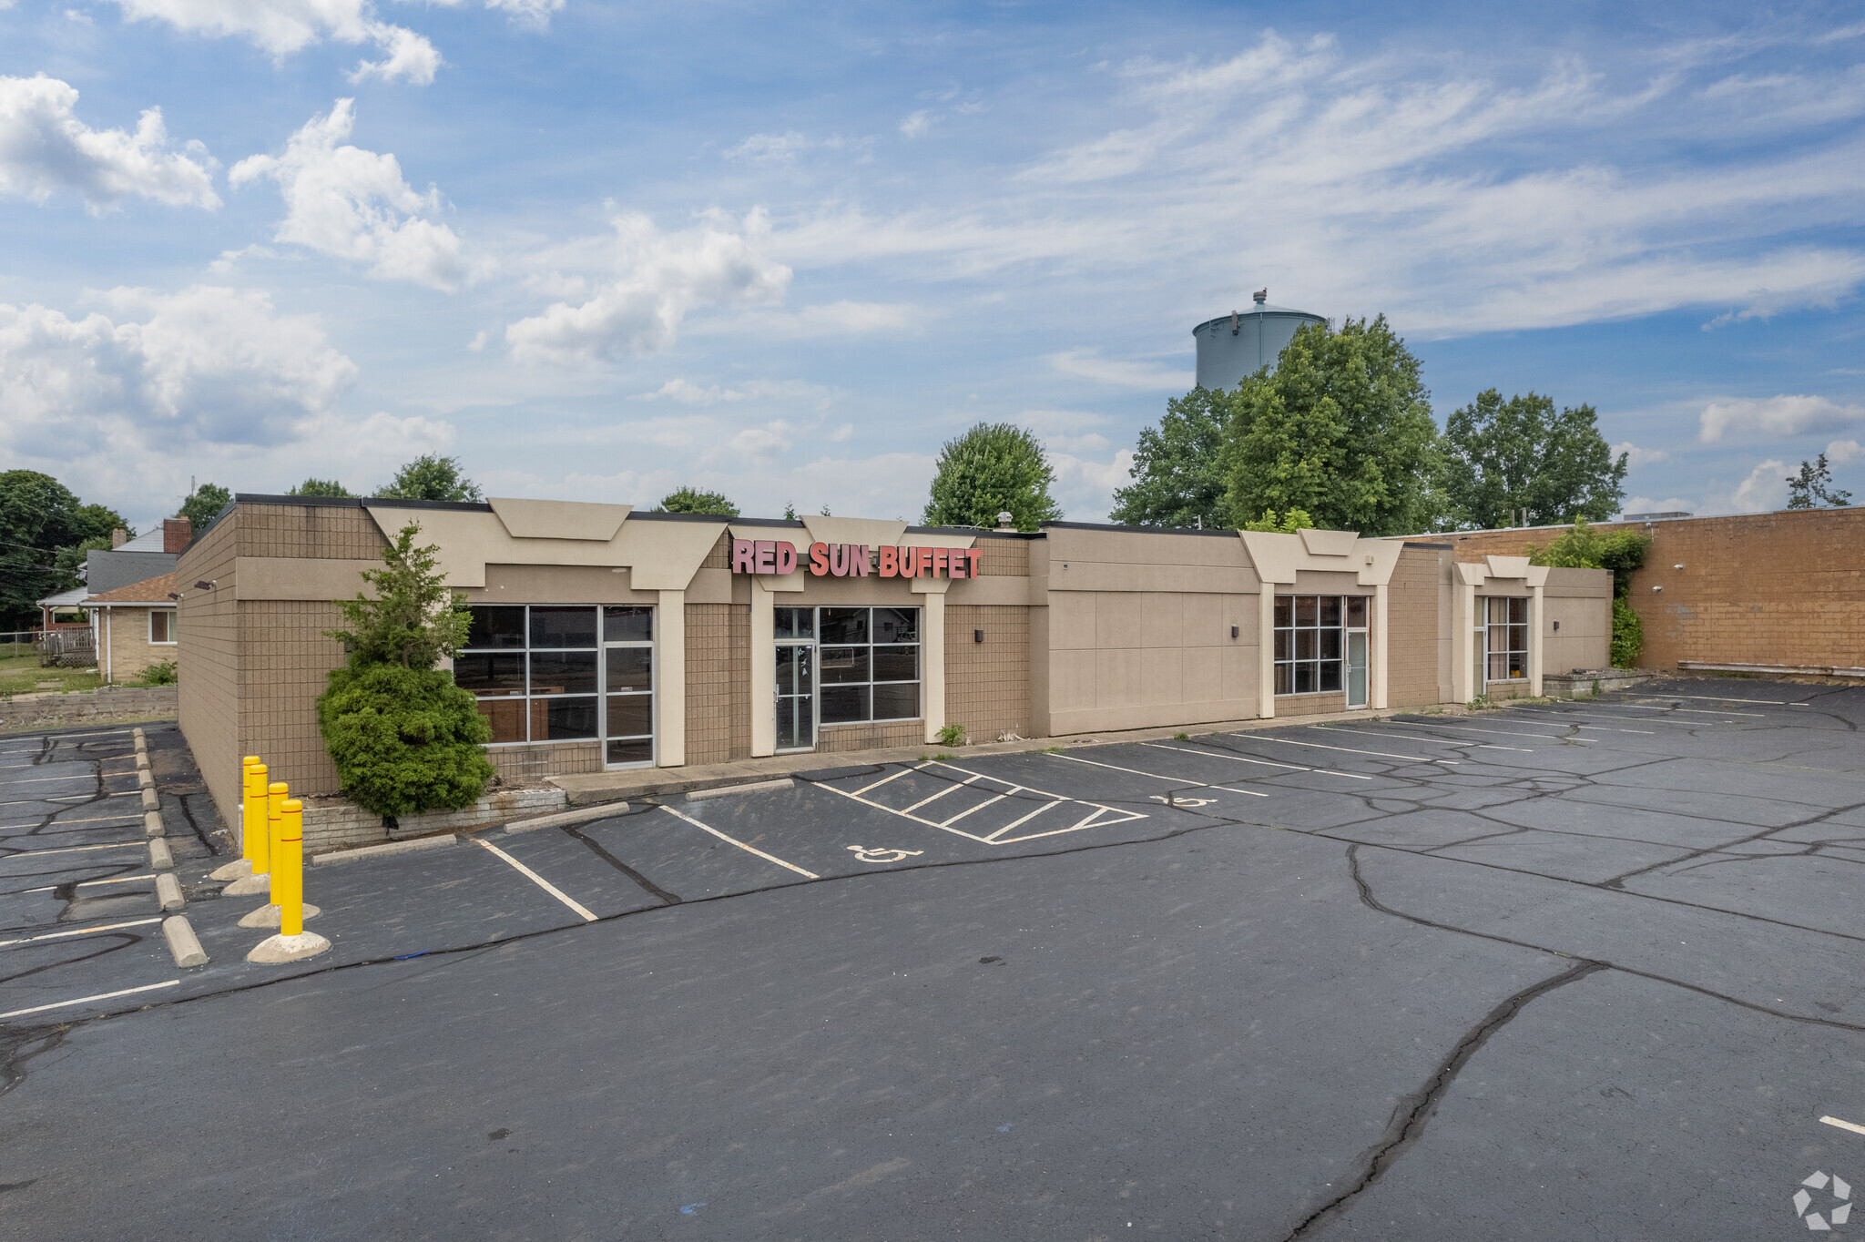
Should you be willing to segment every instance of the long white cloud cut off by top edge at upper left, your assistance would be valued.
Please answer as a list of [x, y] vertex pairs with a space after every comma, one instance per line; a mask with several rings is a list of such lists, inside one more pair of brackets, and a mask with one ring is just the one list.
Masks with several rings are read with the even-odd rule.
[[[522, 0], [520, 0], [522, 2]], [[160, 21], [186, 34], [246, 39], [274, 60], [323, 43], [375, 43], [388, 56], [362, 62], [354, 78], [435, 80], [440, 52], [425, 37], [375, 19], [369, 0], [116, 0], [131, 21]]]

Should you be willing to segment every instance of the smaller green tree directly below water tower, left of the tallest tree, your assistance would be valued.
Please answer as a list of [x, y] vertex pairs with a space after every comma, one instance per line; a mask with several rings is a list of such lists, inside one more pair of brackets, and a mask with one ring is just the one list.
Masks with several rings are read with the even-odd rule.
[[1158, 429], [1141, 429], [1134, 481], [1115, 489], [1108, 517], [1126, 526], [1225, 526], [1220, 457], [1229, 412], [1222, 390], [1167, 401]]

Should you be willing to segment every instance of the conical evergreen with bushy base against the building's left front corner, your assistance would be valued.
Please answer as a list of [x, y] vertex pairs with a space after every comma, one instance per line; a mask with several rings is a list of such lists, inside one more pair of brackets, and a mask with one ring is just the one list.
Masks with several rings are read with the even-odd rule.
[[435, 668], [466, 642], [463, 597], [436, 569], [438, 546], [414, 546], [420, 528], [401, 528], [382, 550], [382, 569], [364, 571], [375, 599], [338, 604], [347, 664], [332, 669], [317, 699], [317, 724], [338, 776], [358, 806], [377, 815], [470, 806], [492, 780], [483, 746], [492, 727], [474, 696]]

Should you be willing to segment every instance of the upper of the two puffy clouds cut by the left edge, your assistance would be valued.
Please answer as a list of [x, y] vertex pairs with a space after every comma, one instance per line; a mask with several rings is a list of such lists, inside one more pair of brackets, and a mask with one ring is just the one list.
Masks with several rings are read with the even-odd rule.
[[136, 132], [91, 129], [76, 117], [78, 91], [43, 73], [0, 76], [0, 198], [43, 203], [60, 190], [78, 194], [93, 214], [125, 198], [172, 207], [220, 207], [220, 164], [200, 142], [168, 145], [162, 110], [147, 108]]

